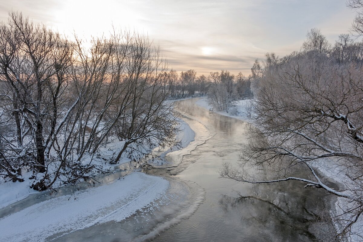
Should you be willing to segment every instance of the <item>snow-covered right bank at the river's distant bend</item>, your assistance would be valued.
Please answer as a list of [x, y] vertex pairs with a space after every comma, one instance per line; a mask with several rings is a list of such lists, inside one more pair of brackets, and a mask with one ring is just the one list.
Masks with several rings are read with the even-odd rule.
[[[207, 110], [213, 110], [213, 106], [208, 103], [207, 97], [200, 98], [195, 103], [196, 103], [196, 105], [198, 105], [202, 108], [205, 108]], [[216, 112], [216, 113], [224, 115], [224, 116], [228, 116], [228, 117], [238, 118], [245, 122], [250, 122], [250, 117], [249, 117], [250, 105], [251, 105], [250, 99], [238, 100], [238, 101], [233, 102], [233, 106], [229, 109], [228, 113], [227, 112]], [[215, 111], [213, 111], [213, 112], [215, 112]]]

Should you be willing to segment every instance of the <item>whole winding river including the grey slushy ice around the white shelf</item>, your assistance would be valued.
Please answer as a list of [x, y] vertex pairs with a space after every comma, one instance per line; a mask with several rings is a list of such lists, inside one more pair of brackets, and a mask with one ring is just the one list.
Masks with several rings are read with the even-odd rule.
[[[179, 101], [177, 110], [195, 132], [187, 147], [166, 155], [166, 164], [145, 170], [169, 182], [166, 193], [122, 221], [60, 230], [44, 241], [316, 241], [330, 229], [317, 221], [331, 198], [297, 181], [253, 185], [219, 178], [224, 162], [236, 164], [246, 142], [246, 123]], [[250, 170], [250, 173], [261, 172]], [[263, 172], [263, 171], [262, 171]], [[108, 182], [123, 173], [99, 177]], [[299, 176], [306, 176], [303, 170]], [[107, 186], [107, 185], [105, 185]], [[89, 186], [79, 186], [87, 191]], [[34, 194], [5, 207], [0, 218], [51, 198], [73, 194], [64, 187], [52, 196]], [[122, 209], [117, 206], [114, 208]], [[318, 226], [319, 225], [319, 226]]]

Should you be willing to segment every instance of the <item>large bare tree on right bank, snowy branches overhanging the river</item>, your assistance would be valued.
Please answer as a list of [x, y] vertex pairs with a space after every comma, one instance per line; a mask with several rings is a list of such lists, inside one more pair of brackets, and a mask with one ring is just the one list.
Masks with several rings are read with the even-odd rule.
[[[343, 212], [334, 217], [343, 240], [353, 233], [363, 211], [363, 73], [361, 64], [335, 63], [315, 52], [265, 66], [254, 93], [256, 116], [240, 168], [224, 164], [220, 175], [249, 183], [297, 180], [343, 198]], [[249, 174], [244, 169], [249, 166], [269, 172]], [[347, 177], [344, 187], [329, 186], [317, 171], [324, 166]], [[310, 175], [295, 177], [299, 168]], [[362, 237], [361, 232], [357, 234]]]

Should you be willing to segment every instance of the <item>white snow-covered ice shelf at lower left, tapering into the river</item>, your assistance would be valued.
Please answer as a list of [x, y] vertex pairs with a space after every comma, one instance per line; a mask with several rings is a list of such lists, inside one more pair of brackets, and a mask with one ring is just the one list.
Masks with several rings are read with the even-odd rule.
[[0, 219], [0, 241], [45, 241], [50, 235], [121, 221], [159, 199], [168, 189], [163, 178], [134, 172], [88, 190], [52, 198]]

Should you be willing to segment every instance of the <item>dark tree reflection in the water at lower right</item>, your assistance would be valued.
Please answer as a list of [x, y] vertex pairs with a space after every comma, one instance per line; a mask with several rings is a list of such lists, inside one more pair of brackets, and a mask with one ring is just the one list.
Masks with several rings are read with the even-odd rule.
[[254, 187], [253, 195], [224, 195], [219, 200], [227, 217], [240, 218], [246, 241], [334, 241], [334, 227], [326, 221], [323, 205], [317, 209], [305, 195], [266, 193], [264, 187]]

